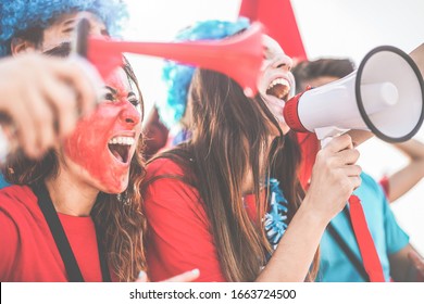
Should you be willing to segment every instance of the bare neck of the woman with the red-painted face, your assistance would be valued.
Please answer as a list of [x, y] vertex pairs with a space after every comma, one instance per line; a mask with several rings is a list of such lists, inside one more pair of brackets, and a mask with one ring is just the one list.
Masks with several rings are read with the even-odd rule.
[[46, 180], [57, 212], [72, 216], [89, 216], [99, 190], [75, 178], [63, 166], [54, 178]]

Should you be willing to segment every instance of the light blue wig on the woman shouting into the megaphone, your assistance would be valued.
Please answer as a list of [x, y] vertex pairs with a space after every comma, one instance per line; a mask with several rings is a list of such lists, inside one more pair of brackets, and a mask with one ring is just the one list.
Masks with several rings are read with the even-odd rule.
[[[239, 17], [236, 22], [201, 21], [183, 29], [176, 41], [216, 40], [232, 36], [249, 27], [249, 20]], [[183, 117], [187, 103], [187, 91], [195, 67], [167, 61], [162, 69], [162, 79], [167, 88], [167, 97], [158, 101], [161, 121], [171, 128]]]

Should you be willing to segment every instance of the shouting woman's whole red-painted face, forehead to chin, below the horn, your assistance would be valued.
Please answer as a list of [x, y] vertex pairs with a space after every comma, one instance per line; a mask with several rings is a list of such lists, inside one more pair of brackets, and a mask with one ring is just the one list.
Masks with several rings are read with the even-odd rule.
[[[128, 183], [130, 159], [141, 132], [140, 113], [128, 101], [129, 84], [123, 71], [107, 81], [108, 96], [82, 118], [64, 142], [65, 155], [86, 170], [101, 191], [120, 193]], [[114, 93], [112, 93], [112, 91]]]

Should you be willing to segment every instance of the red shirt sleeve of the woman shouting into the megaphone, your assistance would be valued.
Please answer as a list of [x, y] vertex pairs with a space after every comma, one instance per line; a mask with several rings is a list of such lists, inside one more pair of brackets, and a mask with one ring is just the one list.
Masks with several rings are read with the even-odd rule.
[[[148, 179], [178, 175], [170, 160], [157, 160], [148, 167]], [[225, 281], [216, 248], [198, 191], [176, 178], [154, 180], [145, 192], [149, 224], [147, 261], [152, 281], [161, 281], [199, 268], [198, 281]]]

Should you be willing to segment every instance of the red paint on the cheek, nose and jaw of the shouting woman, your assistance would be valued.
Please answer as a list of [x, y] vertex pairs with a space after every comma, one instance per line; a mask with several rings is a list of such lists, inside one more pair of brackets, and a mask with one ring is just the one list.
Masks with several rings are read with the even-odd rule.
[[136, 122], [133, 122], [133, 126], [128, 125], [128, 119], [123, 114], [128, 111], [134, 117], [138, 114], [128, 102], [101, 103], [91, 115], [78, 122], [75, 131], [64, 143], [65, 155], [87, 172], [104, 192], [122, 192], [128, 183], [134, 150], [130, 151], [130, 147], [127, 147], [125, 151], [119, 151], [109, 145], [110, 140], [120, 135], [132, 135], [132, 147], [136, 145], [139, 131], [135, 126], [139, 125], [139, 117], [133, 117]]

